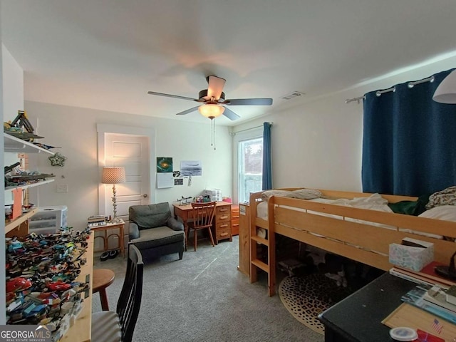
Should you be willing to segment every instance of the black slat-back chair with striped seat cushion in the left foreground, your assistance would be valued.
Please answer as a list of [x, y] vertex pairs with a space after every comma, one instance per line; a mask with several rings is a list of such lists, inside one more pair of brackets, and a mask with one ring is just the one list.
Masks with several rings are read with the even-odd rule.
[[142, 297], [142, 255], [133, 244], [128, 245], [127, 271], [115, 311], [92, 314], [91, 341], [131, 342]]

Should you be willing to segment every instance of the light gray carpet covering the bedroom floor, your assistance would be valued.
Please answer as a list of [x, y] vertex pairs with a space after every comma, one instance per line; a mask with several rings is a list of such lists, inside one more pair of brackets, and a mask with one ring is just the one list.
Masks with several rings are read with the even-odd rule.
[[[217, 246], [198, 242], [181, 261], [177, 254], [145, 265], [143, 296], [133, 341], [309, 341], [324, 338], [297, 321], [281, 304], [268, 297], [266, 277], [249, 284], [237, 271], [239, 241]], [[116, 279], [107, 289], [110, 309], [115, 310], [123, 284], [125, 261], [121, 257], [94, 267], [110, 268]], [[93, 311], [100, 311], [98, 294]]]

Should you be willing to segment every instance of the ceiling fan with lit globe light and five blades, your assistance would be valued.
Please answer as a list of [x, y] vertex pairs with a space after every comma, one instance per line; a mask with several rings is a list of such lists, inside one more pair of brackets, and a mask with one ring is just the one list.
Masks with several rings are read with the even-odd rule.
[[217, 116], [225, 115], [230, 120], [237, 120], [240, 118], [239, 115], [234, 113], [229, 108], [226, 108], [222, 105], [271, 105], [271, 98], [234, 98], [234, 99], [225, 99], [225, 93], [222, 91], [225, 85], [224, 78], [219, 78], [217, 76], [207, 76], [206, 78], [208, 86], [207, 89], [201, 90], [198, 94], [198, 98], [187, 98], [180, 95], [171, 95], [165, 93], [157, 93], [155, 91], [148, 91], [147, 94], [150, 95], [159, 95], [167, 96], [169, 98], [180, 98], [182, 100], [190, 100], [202, 103], [196, 107], [184, 110], [183, 112], [177, 113], [176, 115], [185, 115], [192, 113], [195, 110], [199, 110], [199, 113], [204, 115], [206, 118], [213, 119]]

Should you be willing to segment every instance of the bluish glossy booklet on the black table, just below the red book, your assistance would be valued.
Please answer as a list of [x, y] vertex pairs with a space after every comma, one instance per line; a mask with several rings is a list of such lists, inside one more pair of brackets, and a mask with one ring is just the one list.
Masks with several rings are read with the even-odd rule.
[[405, 303], [423, 309], [432, 315], [439, 316], [450, 323], [456, 324], [456, 311], [452, 311], [452, 309], [447, 309], [446, 307], [425, 300], [425, 294], [430, 289], [432, 289], [431, 285], [418, 284], [404, 294], [401, 300]]

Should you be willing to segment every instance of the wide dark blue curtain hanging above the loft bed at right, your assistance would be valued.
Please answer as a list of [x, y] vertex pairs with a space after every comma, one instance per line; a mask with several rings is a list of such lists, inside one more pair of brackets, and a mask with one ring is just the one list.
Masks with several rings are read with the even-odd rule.
[[420, 196], [456, 185], [456, 105], [432, 100], [450, 72], [365, 95], [363, 192]]

